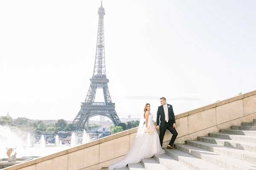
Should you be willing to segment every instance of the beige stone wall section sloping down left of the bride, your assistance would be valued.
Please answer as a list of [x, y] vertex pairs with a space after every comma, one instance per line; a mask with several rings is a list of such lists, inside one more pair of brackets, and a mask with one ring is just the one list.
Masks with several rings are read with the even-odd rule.
[[5, 170], [101, 170], [128, 153], [137, 127]]

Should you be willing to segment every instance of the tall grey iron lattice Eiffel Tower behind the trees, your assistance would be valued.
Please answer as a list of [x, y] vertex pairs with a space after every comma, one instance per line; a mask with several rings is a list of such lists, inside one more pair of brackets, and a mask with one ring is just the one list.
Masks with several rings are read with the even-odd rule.
[[[110, 93], [108, 90], [108, 79], [106, 77], [105, 67], [105, 49], [104, 49], [104, 22], [103, 18], [105, 10], [101, 6], [98, 10], [99, 24], [96, 45], [96, 57], [93, 68], [93, 77], [90, 79], [90, 88], [84, 102], [81, 102], [81, 109], [73, 120], [72, 124], [75, 130], [84, 128], [85, 123], [93, 116], [102, 115], [112, 120], [116, 126], [121, 123], [116, 114], [115, 103], [111, 101]], [[103, 88], [105, 102], [94, 102], [97, 88]]]

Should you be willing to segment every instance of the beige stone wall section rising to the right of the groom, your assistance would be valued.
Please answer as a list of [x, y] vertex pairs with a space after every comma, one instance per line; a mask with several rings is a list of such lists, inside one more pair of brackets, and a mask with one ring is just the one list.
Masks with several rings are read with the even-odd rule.
[[[209, 132], [241, 125], [241, 122], [252, 122], [253, 118], [256, 119], [256, 91], [178, 114], [175, 116], [178, 132], [175, 143], [207, 136]], [[171, 133], [166, 133], [164, 147], [170, 138]]]

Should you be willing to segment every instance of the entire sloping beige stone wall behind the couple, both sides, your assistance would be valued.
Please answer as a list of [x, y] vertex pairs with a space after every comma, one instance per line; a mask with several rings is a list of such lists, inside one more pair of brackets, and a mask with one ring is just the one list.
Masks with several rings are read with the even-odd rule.
[[[178, 114], [176, 127], [178, 136], [175, 143], [184, 143], [209, 132], [252, 122], [256, 119], [256, 91], [235, 96], [186, 113]], [[6, 168], [6, 170], [101, 170], [122, 159], [131, 148], [137, 128], [125, 130], [87, 144], [27, 161]], [[166, 131], [165, 147], [171, 133]]]

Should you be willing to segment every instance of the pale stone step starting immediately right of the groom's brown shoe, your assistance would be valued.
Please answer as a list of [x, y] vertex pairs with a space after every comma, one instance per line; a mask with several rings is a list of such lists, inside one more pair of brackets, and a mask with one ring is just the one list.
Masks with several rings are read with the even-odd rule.
[[220, 155], [188, 144], [175, 144], [175, 146], [183, 152], [190, 153], [193, 156], [228, 170], [256, 170], [256, 164], [250, 162]]

